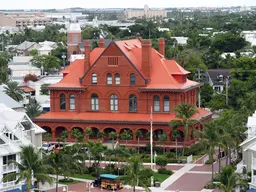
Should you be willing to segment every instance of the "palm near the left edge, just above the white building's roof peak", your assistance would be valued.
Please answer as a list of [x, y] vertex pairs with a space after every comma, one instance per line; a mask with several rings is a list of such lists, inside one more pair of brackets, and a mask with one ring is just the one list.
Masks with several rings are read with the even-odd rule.
[[6, 87], [4, 87], [4, 92], [13, 98], [15, 101], [22, 101], [23, 100], [23, 90], [18, 87], [18, 83], [16, 81], [9, 81], [6, 83]]

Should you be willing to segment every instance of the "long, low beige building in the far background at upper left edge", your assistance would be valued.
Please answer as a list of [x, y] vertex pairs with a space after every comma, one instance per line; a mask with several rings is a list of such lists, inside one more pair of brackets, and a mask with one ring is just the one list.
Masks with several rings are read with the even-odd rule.
[[27, 27], [41, 26], [51, 23], [51, 19], [46, 18], [45, 13], [0, 13], [0, 26]]

